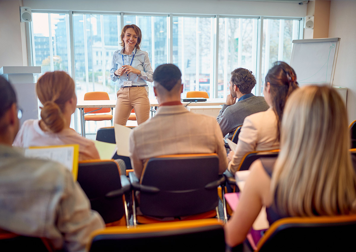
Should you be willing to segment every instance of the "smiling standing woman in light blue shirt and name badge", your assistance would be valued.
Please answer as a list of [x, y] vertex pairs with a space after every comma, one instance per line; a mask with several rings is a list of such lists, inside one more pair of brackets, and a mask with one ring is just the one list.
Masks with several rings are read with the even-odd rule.
[[145, 122], [150, 115], [150, 100], [146, 81], [153, 82], [153, 70], [148, 53], [140, 50], [142, 34], [136, 25], [125, 25], [121, 31], [121, 50], [112, 55], [110, 76], [118, 81], [114, 122], [126, 125], [132, 108], [137, 124]]

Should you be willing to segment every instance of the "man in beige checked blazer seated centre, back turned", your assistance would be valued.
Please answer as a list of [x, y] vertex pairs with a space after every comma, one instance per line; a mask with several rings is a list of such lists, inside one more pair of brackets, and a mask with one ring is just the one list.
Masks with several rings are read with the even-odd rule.
[[159, 155], [217, 153], [219, 173], [226, 169], [223, 134], [216, 119], [195, 114], [180, 102], [182, 73], [173, 64], [158, 66], [153, 73], [159, 108], [155, 117], [138, 125], [130, 133], [130, 157], [137, 178], [146, 159]]

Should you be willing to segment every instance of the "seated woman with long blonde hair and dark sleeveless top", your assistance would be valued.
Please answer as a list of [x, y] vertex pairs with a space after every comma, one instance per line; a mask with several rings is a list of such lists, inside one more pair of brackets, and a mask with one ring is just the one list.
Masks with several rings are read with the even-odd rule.
[[252, 163], [225, 227], [227, 244], [244, 241], [262, 206], [270, 225], [283, 217], [355, 213], [347, 126], [345, 105], [335, 90], [305, 86], [293, 92], [284, 110], [278, 158]]

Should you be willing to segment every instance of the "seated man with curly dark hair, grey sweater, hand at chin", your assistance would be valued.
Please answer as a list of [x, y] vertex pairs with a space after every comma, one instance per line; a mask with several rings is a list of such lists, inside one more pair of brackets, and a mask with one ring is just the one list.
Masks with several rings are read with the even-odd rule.
[[265, 98], [251, 93], [255, 85], [256, 79], [251, 71], [240, 67], [231, 72], [230, 94], [227, 95], [226, 103], [216, 118], [223, 135], [229, 134], [230, 140], [245, 117], [269, 108]]

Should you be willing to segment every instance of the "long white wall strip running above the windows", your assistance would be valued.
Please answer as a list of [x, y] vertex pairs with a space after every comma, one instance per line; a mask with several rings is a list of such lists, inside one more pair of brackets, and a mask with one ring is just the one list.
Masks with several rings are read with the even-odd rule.
[[152, 13], [221, 14], [304, 17], [307, 4], [237, 0], [23, 0], [37, 10], [126, 11]]

